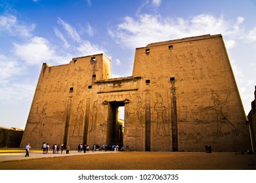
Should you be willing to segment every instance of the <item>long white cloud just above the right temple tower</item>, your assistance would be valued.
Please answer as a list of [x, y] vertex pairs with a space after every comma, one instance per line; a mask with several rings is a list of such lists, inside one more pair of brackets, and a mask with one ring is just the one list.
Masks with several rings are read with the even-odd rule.
[[217, 18], [210, 14], [200, 14], [192, 18], [163, 18], [160, 15], [140, 14], [136, 18], [126, 16], [117, 25], [116, 30], [109, 31], [115, 36], [117, 43], [129, 48], [146, 46], [150, 42], [166, 41], [182, 37], [205, 34], [222, 34], [234, 46], [236, 39], [244, 35], [242, 22], [238, 17], [235, 21]]

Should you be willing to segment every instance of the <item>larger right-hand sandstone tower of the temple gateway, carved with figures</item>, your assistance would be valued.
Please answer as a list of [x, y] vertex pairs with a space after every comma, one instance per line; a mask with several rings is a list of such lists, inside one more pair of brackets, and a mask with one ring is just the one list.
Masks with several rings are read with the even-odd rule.
[[141, 90], [149, 95], [151, 150], [249, 148], [246, 116], [221, 35], [137, 48], [133, 76], [142, 76]]

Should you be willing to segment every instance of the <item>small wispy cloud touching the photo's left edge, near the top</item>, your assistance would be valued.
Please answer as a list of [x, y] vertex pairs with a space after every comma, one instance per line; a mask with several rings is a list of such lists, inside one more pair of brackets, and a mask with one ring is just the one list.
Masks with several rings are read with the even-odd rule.
[[35, 24], [26, 25], [19, 22], [16, 16], [11, 14], [0, 16], [0, 34], [9, 36], [30, 37], [35, 29]]

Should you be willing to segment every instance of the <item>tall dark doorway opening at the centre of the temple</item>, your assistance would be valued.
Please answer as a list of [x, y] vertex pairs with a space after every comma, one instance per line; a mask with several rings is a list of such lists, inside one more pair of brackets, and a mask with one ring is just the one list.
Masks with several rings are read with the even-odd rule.
[[110, 145], [118, 145], [119, 149], [123, 147], [124, 107], [123, 101], [110, 102], [107, 142]]

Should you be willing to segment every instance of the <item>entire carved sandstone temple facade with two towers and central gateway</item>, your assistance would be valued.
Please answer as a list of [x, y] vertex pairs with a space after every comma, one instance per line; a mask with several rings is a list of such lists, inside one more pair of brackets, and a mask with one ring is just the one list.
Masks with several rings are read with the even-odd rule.
[[245, 151], [246, 122], [222, 35], [202, 35], [136, 48], [127, 77], [112, 78], [104, 54], [43, 63], [20, 146]]

